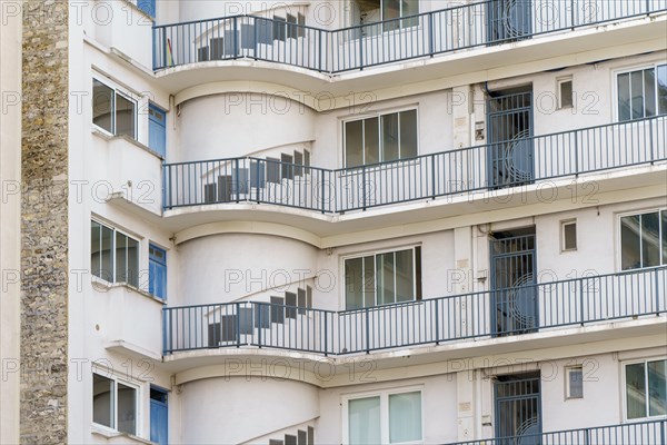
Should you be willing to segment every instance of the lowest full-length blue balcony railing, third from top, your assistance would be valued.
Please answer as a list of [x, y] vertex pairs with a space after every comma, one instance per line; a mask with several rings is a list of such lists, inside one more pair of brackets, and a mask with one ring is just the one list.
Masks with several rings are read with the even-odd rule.
[[532, 334], [667, 312], [667, 266], [355, 310], [262, 301], [163, 308], [163, 353], [288, 349], [340, 356]]

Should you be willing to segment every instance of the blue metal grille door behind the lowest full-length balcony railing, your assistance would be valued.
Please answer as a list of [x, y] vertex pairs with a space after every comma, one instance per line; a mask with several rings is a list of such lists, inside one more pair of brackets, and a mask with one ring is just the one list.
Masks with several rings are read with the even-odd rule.
[[535, 234], [495, 234], [491, 240], [492, 317], [496, 335], [538, 326]]

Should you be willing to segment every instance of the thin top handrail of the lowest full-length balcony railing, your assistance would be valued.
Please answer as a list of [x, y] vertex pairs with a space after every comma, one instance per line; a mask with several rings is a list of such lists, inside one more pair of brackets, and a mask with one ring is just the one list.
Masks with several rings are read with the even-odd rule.
[[[590, 280], [590, 279], [621, 277], [621, 276], [627, 276], [627, 275], [643, 275], [643, 274], [649, 274], [651, 271], [658, 271], [658, 270], [667, 270], [667, 265], [644, 267], [644, 268], [631, 269], [631, 270], [620, 270], [617, 273], [609, 273], [609, 274], [590, 275], [590, 276], [578, 277], [578, 278], [558, 279], [558, 280], [554, 280], [554, 281], [534, 283], [534, 284], [529, 284], [529, 285], [521, 285], [520, 288], [529, 289], [529, 288], [548, 287], [548, 286], [570, 284], [570, 283], [579, 283], [579, 281], [585, 281], [585, 280]], [[319, 312], [319, 313], [332, 314], [332, 315], [348, 315], [348, 314], [364, 313], [364, 312], [370, 312], [370, 310], [385, 310], [385, 309], [390, 310], [390, 309], [394, 309], [394, 308], [397, 308], [400, 306], [409, 306], [409, 305], [425, 304], [425, 303], [429, 303], [429, 301], [440, 301], [440, 300], [448, 300], [448, 299], [461, 299], [464, 297], [487, 295], [487, 294], [494, 294], [494, 293], [506, 293], [506, 291], [516, 290], [516, 289], [517, 289], [517, 287], [502, 287], [502, 288], [495, 288], [495, 289], [489, 289], [489, 290], [477, 290], [474, 293], [445, 295], [445, 296], [440, 296], [440, 297], [422, 298], [422, 299], [416, 299], [416, 300], [410, 300], [410, 301], [400, 301], [400, 303], [388, 303], [385, 305], [376, 305], [376, 306], [360, 307], [360, 308], [356, 308], [356, 309], [341, 309], [341, 310], [319, 309], [319, 308], [312, 308], [312, 307], [306, 308], [306, 307], [301, 307], [301, 306], [283, 305], [283, 304], [277, 304], [277, 303], [270, 303], [270, 301], [256, 301], [256, 300], [209, 303], [209, 304], [187, 305], [187, 306], [165, 306], [162, 308], [162, 310], [167, 312], [167, 310], [173, 310], [173, 309], [190, 309], [190, 308], [209, 307], [209, 306], [265, 305], [265, 306], [282, 307], [282, 308], [289, 308], [289, 309]]]

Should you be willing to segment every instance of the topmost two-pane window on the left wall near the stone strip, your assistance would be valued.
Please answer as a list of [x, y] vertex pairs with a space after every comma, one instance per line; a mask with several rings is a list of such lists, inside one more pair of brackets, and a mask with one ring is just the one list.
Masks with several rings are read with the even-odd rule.
[[92, 79], [92, 123], [111, 135], [137, 139], [137, 102]]

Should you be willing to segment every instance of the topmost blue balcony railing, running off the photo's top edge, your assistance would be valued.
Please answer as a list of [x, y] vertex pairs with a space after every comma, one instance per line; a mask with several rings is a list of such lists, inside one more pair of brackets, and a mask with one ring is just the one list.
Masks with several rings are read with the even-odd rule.
[[153, 27], [153, 69], [251, 59], [335, 75], [666, 10], [667, 0], [488, 0], [335, 30], [256, 16], [222, 17]]

